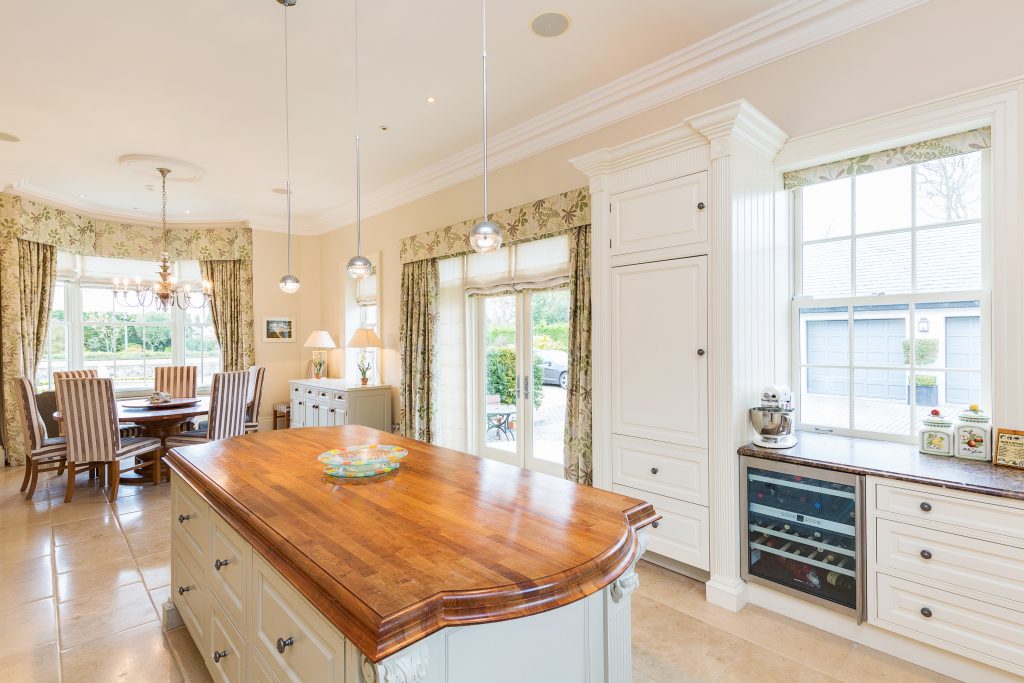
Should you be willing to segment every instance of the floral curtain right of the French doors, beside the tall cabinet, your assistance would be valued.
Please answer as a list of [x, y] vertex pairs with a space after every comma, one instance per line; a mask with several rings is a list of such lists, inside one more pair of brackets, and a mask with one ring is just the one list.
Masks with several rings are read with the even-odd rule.
[[565, 478], [594, 483], [590, 225], [569, 236], [569, 371], [565, 397]]

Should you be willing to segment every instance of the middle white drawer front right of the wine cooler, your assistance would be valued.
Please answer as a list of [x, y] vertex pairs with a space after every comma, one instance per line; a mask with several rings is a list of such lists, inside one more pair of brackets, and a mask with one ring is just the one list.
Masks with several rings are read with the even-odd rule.
[[878, 563], [1016, 600], [1024, 608], [1024, 548], [879, 519]]

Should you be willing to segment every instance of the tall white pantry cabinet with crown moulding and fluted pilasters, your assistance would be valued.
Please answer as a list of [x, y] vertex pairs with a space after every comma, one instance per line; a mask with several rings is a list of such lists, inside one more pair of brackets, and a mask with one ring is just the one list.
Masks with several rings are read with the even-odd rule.
[[593, 202], [594, 483], [653, 503], [648, 549], [707, 571], [708, 599], [732, 610], [746, 601], [736, 449], [775, 379], [787, 287], [784, 141], [739, 100], [571, 162]]

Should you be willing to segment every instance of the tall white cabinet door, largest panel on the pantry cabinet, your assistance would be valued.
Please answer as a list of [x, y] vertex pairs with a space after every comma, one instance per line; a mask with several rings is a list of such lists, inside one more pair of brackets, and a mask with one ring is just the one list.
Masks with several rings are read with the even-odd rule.
[[611, 431], [708, 446], [708, 258], [611, 269]]

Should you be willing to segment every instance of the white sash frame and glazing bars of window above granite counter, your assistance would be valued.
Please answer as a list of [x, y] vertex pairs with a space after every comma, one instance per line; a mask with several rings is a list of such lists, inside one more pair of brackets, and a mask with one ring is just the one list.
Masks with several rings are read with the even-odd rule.
[[[925, 138], [927, 139], [927, 138]], [[943, 303], [943, 302], [963, 302], [963, 301], [978, 301], [979, 302], [979, 315], [980, 315], [980, 328], [981, 328], [981, 368], [978, 371], [973, 369], [949, 369], [946, 367], [946, 362], [943, 359], [941, 365], [929, 366], [927, 368], [921, 368], [920, 370], [924, 374], [930, 373], [942, 373], [948, 376], [949, 372], [978, 372], [981, 379], [981, 399], [980, 403], [993, 410], [992, 405], [992, 302], [991, 302], [991, 292], [992, 292], [992, 268], [994, 263], [994, 258], [991, 250], [992, 242], [992, 227], [991, 227], [991, 201], [992, 201], [992, 186], [991, 186], [991, 151], [982, 150], [981, 153], [981, 197], [980, 197], [980, 216], [977, 219], [967, 219], [967, 220], [952, 220], [952, 221], [942, 221], [929, 223], [925, 225], [918, 224], [918, 211], [916, 211], [916, 185], [914, 176], [916, 174], [918, 164], [909, 165], [911, 168], [911, 178], [910, 183], [910, 224], [902, 226], [899, 228], [890, 228], [885, 230], [876, 230], [869, 232], [859, 233], [856, 230], [856, 186], [858, 175], [851, 176], [851, 224], [850, 232], [846, 236], [824, 238], [820, 240], [811, 240], [807, 243], [803, 240], [803, 187], [796, 187], [792, 190], [786, 191], [788, 209], [791, 216], [791, 234], [792, 234], [792, 263], [794, 264], [792, 273], [792, 286], [793, 286], [793, 296], [791, 297], [790, 306], [790, 323], [791, 323], [791, 358], [790, 358], [790, 369], [791, 369], [791, 386], [794, 387], [794, 401], [796, 405], [796, 420], [795, 428], [800, 431], [813, 431], [819, 433], [837, 434], [843, 436], [853, 436], [860, 438], [870, 438], [876, 440], [885, 441], [895, 441], [904, 443], [915, 443], [916, 442], [916, 427], [918, 421], [915, 419], [915, 409], [920, 408], [916, 405], [916, 382], [913, 381], [915, 374], [918, 374], [918, 366], [915, 364], [915, 354], [910, 353], [908, 357], [908, 364], [903, 367], [896, 366], [882, 366], [882, 365], [856, 365], [854, 360], [854, 333], [855, 333], [855, 321], [865, 319], [857, 317], [857, 307], [859, 306], [876, 306], [876, 305], [906, 305], [907, 306], [907, 339], [910, 343], [910, 348], [914, 348], [914, 343], [916, 340], [918, 329], [914, 324], [916, 305], [918, 304], [929, 304], [929, 303]], [[981, 233], [981, 289], [979, 290], [965, 290], [965, 291], [944, 291], [944, 292], [928, 292], [919, 293], [913, 290], [916, 289], [918, 285], [918, 249], [916, 241], [918, 233], [922, 230], [929, 229], [939, 229], [944, 227], [955, 227], [961, 225], [980, 225]], [[857, 281], [857, 241], [864, 237], [880, 237], [886, 234], [897, 234], [897, 233], [909, 233], [910, 236], [910, 283], [911, 291], [899, 294], [869, 294], [869, 295], [858, 295], [856, 290]], [[847, 240], [850, 244], [850, 294], [848, 296], [829, 296], [829, 297], [814, 297], [805, 296], [803, 294], [803, 247], [805, 244], [828, 244], [833, 242], [840, 242]], [[803, 344], [803, 331], [801, 329], [801, 309], [804, 308], [829, 308], [829, 307], [845, 307], [847, 308], [847, 362], [842, 364], [810, 364], [804, 358], [804, 344]], [[828, 425], [817, 425], [811, 422], [806, 422], [804, 420], [804, 407], [803, 407], [803, 387], [804, 387], [804, 373], [810, 368], [839, 368], [846, 369], [849, 371], [848, 379], [848, 392], [846, 394], [846, 399], [849, 402], [849, 427], [835, 427]], [[907, 434], [895, 434], [889, 432], [879, 432], [857, 429], [855, 427], [855, 411], [856, 411], [856, 389], [855, 389], [855, 371], [856, 370], [879, 370], [879, 371], [892, 371], [892, 372], [902, 372], [906, 373], [908, 379], [908, 427], [909, 432]]]

